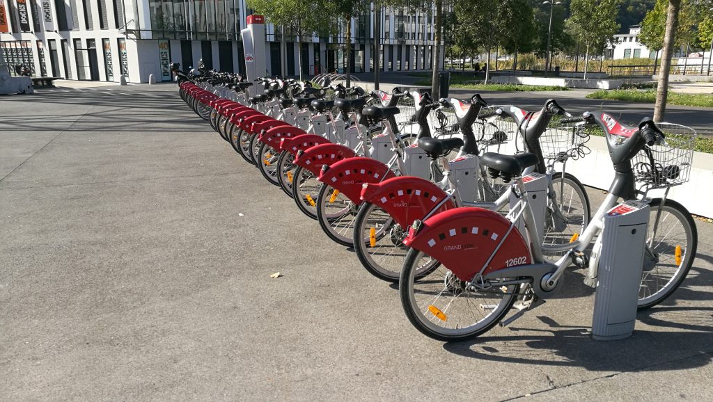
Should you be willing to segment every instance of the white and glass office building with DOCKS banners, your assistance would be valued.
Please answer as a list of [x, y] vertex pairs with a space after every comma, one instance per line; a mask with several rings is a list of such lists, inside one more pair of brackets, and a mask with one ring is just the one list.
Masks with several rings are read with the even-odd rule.
[[[352, 19], [352, 72], [374, 68], [372, 13]], [[33, 76], [128, 82], [170, 81], [168, 65], [245, 71], [240, 30], [252, 14], [245, 0], [0, 0], [0, 46], [9, 66], [24, 64]], [[434, 12], [383, 9], [383, 71], [429, 68]], [[279, 27], [267, 24], [267, 73], [282, 73]], [[303, 38], [289, 31], [288, 76], [344, 71], [344, 37]], [[442, 52], [441, 52], [442, 53]]]

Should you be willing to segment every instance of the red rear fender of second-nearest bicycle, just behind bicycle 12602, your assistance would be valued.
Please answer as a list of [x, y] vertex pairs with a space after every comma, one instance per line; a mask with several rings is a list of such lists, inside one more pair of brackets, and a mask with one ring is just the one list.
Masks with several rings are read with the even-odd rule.
[[[361, 200], [388, 212], [404, 228], [411, 226], [414, 220], [424, 219], [446, 197], [446, 192], [434, 183], [414, 176], [393, 177], [380, 183], [364, 185], [361, 189]], [[455, 207], [451, 199], [434, 213]]]

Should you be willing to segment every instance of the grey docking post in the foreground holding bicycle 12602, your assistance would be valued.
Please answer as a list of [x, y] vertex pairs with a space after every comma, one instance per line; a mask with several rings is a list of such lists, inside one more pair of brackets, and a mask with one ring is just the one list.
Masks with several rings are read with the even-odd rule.
[[627, 201], [604, 216], [603, 239], [597, 261], [592, 337], [597, 341], [624, 339], [634, 331], [641, 284], [649, 205]]

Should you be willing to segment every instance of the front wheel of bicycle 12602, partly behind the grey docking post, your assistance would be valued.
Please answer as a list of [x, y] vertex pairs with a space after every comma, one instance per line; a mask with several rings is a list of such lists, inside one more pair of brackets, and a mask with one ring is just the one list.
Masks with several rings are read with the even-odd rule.
[[666, 200], [662, 205], [660, 198], [652, 200], [650, 207], [639, 288], [640, 310], [661, 303], [681, 286], [696, 257], [698, 244], [696, 224], [686, 207], [674, 200]]

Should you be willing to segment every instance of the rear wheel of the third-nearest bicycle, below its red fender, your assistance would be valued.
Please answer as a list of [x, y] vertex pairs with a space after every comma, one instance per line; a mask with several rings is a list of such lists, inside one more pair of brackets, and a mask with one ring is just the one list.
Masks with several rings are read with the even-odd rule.
[[354, 220], [359, 205], [349, 200], [342, 192], [329, 185], [322, 185], [317, 196], [317, 220], [324, 233], [343, 246], [352, 247]]

